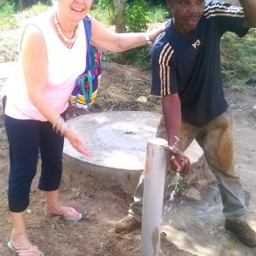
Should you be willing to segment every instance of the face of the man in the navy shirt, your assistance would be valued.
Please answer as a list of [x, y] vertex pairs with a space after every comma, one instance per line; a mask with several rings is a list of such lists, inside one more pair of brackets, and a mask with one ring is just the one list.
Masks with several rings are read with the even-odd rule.
[[174, 17], [175, 30], [186, 36], [197, 26], [204, 13], [204, 0], [169, 0]]

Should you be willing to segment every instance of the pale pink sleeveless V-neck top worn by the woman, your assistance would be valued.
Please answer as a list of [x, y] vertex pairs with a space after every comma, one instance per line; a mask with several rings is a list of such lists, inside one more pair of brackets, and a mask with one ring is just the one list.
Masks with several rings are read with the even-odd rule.
[[[49, 15], [49, 14], [48, 14]], [[86, 40], [83, 20], [79, 22], [79, 34], [72, 49], [61, 43], [47, 14], [39, 15], [27, 24], [38, 26], [44, 35], [47, 48], [48, 78], [45, 95], [58, 113], [67, 109], [67, 100], [73, 91], [75, 80], [85, 69]], [[21, 59], [21, 58], [20, 58]], [[38, 108], [32, 105], [28, 97], [21, 60], [18, 70], [9, 79], [6, 88], [7, 103], [5, 113], [15, 119], [36, 119], [46, 121]]]

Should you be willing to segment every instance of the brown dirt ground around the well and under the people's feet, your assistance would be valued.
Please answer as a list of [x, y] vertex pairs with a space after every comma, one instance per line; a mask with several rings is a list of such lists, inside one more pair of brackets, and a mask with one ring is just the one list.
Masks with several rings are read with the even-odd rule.
[[[160, 112], [160, 99], [149, 96], [148, 70], [117, 64], [103, 65], [103, 82], [92, 112], [112, 110], [147, 110]], [[1, 81], [0, 81], [1, 82]], [[3, 82], [3, 81], [2, 81]], [[117, 93], [118, 91], [118, 93]], [[234, 113], [236, 166], [245, 190], [248, 222], [256, 230], [256, 88], [230, 86], [226, 96]], [[147, 100], [145, 102], [145, 100]], [[254, 108], [253, 108], [254, 107]], [[68, 118], [84, 110], [68, 109]], [[3, 112], [0, 117], [3, 127]], [[38, 163], [38, 173], [39, 173]], [[9, 146], [0, 142], [0, 255], [13, 255], [6, 246], [11, 222], [7, 189]], [[38, 175], [32, 183], [31, 204], [26, 212], [27, 228], [32, 241], [45, 256], [137, 256], [141, 232], [116, 235], [113, 224], [125, 216], [132, 199], [122, 189], [77, 186], [61, 183], [61, 201], [83, 212], [76, 223], [44, 216], [44, 195], [37, 189]], [[166, 199], [167, 200], [167, 199]], [[172, 212], [165, 214], [161, 249], [173, 256], [253, 256], [248, 248], [224, 230], [224, 218], [217, 183], [204, 179], [190, 184], [173, 202]], [[149, 255], [147, 255], [149, 256]]]

